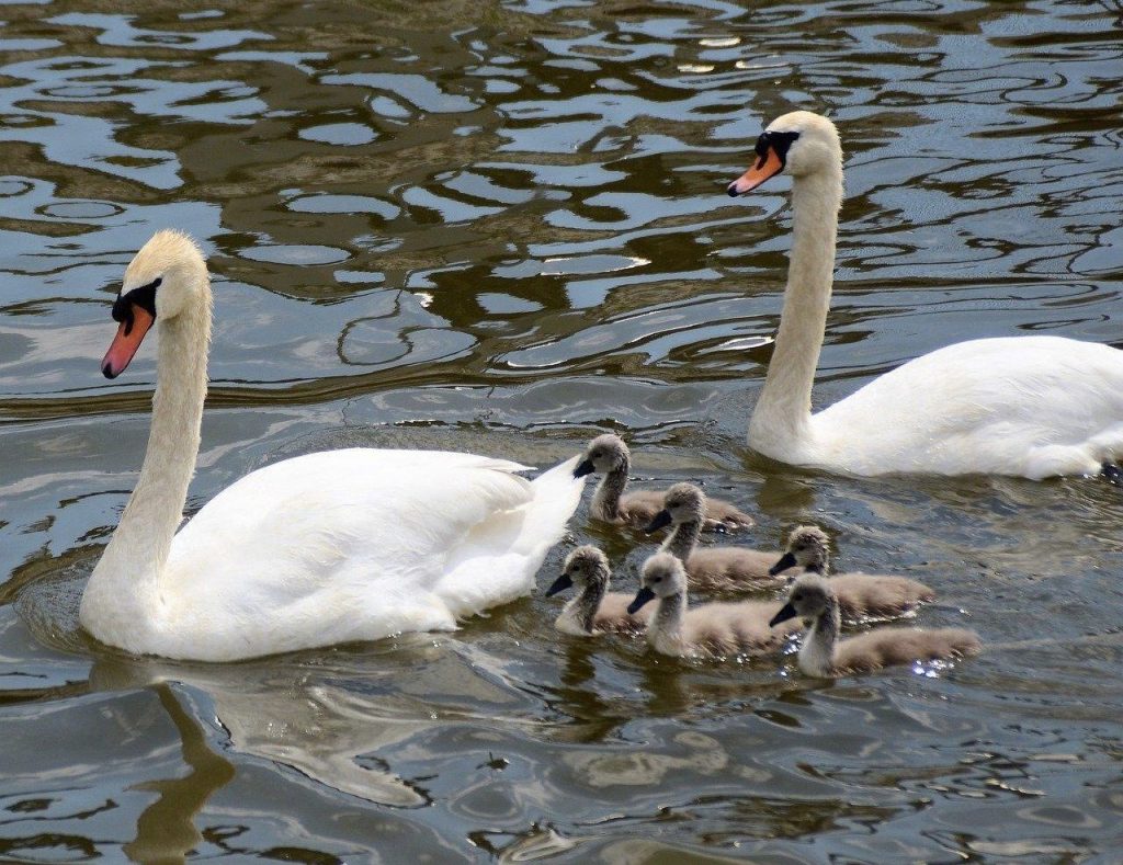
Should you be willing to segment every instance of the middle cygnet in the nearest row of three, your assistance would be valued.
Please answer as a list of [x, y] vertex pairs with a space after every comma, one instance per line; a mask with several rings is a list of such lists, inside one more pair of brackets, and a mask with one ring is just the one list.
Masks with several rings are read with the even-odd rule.
[[647, 642], [660, 654], [678, 657], [725, 657], [778, 652], [784, 637], [797, 629], [773, 628], [779, 605], [767, 601], [703, 604], [686, 608], [686, 571], [670, 553], [656, 553], [643, 563], [640, 590], [628, 607], [638, 613], [658, 600], [648, 620]]

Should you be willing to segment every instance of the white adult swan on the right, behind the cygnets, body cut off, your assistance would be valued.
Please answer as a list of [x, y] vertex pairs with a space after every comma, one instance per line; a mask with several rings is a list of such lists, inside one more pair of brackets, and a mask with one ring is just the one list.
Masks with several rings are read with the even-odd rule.
[[1123, 457], [1123, 351], [1060, 337], [970, 340], [916, 358], [811, 413], [842, 202], [834, 125], [773, 121], [730, 195], [792, 175], [784, 312], [749, 445], [782, 462], [853, 475], [1090, 475]]

